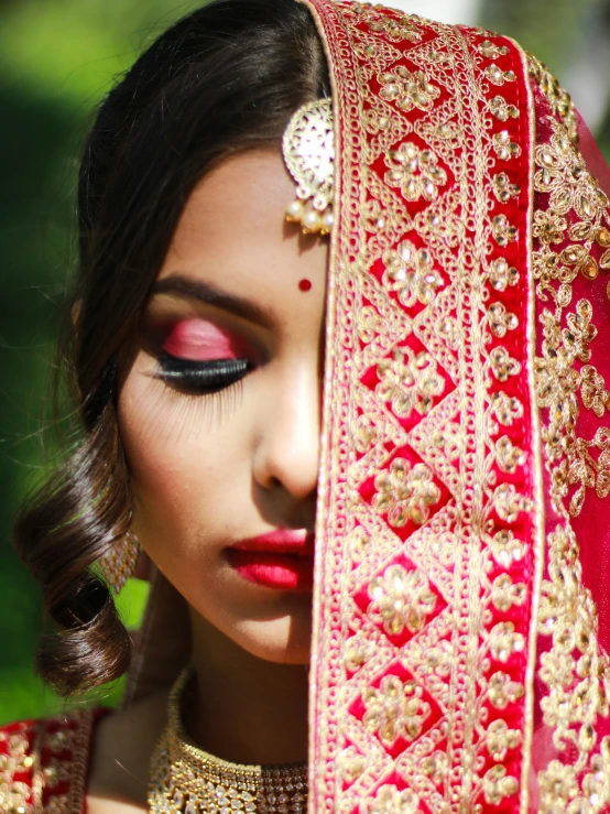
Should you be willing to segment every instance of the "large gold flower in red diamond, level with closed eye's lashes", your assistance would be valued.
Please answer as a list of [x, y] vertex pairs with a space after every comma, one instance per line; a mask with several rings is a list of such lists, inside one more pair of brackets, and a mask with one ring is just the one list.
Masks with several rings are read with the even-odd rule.
[[382, 401], [392, 402], [392, 412], [401, 419], [413, 411], [426, 415], [434, 398], [445, 390], [445, 379], [425, 350], [416, 354], [410, 347], [395, 348], [393, 358], [380, 362], [377, 372], [380, 381], [375, 393]]

